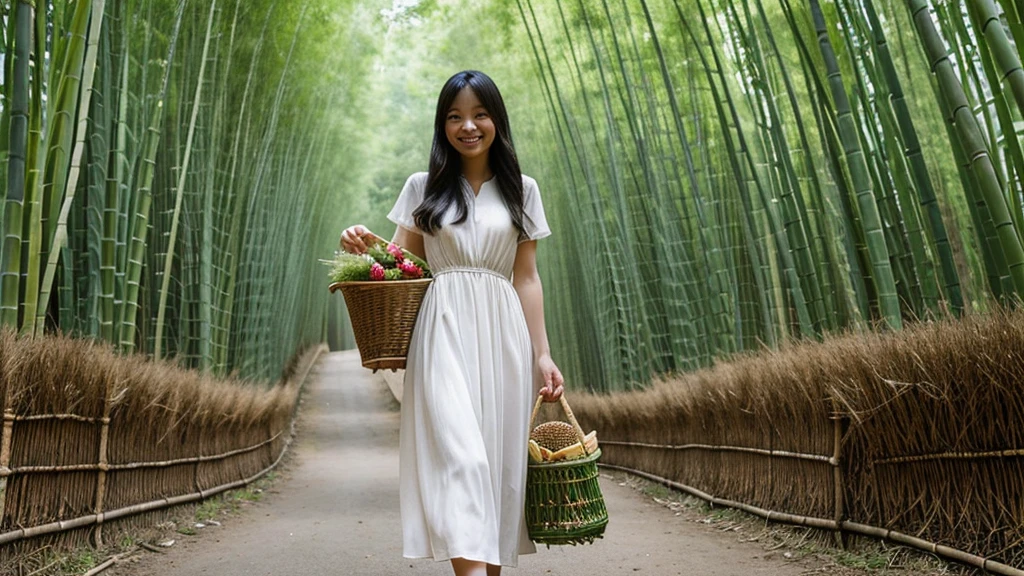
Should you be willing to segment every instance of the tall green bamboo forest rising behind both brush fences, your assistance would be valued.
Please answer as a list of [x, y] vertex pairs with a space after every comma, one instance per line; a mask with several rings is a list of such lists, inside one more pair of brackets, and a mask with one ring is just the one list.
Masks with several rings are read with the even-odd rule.
[[1015, 0], [3, 3], [0, 320], [272, 379], [485, 71], [591, 390], [1024, 291]]

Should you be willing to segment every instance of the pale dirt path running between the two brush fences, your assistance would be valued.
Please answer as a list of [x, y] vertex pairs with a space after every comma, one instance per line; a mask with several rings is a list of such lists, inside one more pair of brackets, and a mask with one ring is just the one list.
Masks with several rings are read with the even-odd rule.
[[[116, 568], [132, 576], [451, 574], [446, 563], [401, 558], [398, 412], [352, 353], [322, 361], [306, 393], [290, 471], [273, 494], [221, 527], [179, 537], [165, 554]], [[542, 548], [509, 574], [595, 576], [799, 575], [807, 566], [677, 516], [610, 477], [611, 519], [591, 546]]]

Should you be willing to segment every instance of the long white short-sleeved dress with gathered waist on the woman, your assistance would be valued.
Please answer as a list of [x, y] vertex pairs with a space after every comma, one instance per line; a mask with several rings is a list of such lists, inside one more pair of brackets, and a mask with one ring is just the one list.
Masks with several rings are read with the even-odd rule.
[[[413, 211], [426, 180], [426, 172], [410, 176], [388, 219], [421, 233]], [[549, 236], [537, 182], [522, 180], [527, 237]], [[424, 235], [434, 281], [413, 330], [402, 389], [403, 554], [514, 567], [520, 553], [536, 551], [523, 505], [537, 369], [509, 281], [518, 233], [494, 179], [475, 198], [465, 178], [462, 184], [466, 219]]]

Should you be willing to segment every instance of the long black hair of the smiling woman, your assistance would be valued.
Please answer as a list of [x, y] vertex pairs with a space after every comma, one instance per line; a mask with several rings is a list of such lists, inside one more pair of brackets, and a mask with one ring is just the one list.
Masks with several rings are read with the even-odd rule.
[[437, 97], [437, 113], [434, 116], [434, 141], [430, 147], [430, 171], [423, 195], [423, 204], [413, 211], [416, 225], [427, 234], [441, 229], [441, 217], [454, 204], [457, 217], [453, 223], [460, 223], [469, 213], [468, 199], [462, 188], [462, 156], [449, 142], [444, 131], [447, 112], [459, 92], [469, 86], [480, 104], [486, 109], [495, 123], [495, 140], [487, 152], [487, 164], [494, 172], [495, 181], [501, 191], [502, 200], [512, 215], [512, 224], [520, 237], [523, 229], [522, 172], [519, 160], [512, 146], [509, 116], [505, 111], [502, 93], [486, 74], [466, 70], [449, 78]]

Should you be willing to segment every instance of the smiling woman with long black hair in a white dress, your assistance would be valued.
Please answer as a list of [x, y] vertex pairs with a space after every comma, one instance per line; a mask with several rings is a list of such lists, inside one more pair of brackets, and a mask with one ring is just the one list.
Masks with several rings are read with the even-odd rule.
[[[437, 101], [429, 172], [406, 182], [388, 219], [434, 280], [406, 365], [401, 404], [404, 556], [494, 576], [535, 551], [523, 518], [531, 399], [557, 400], [537, 273], [551, 234], [519, 171], [498, 87], [461, 72]], [[365, 227], [342, 235], [365, 250]]]

